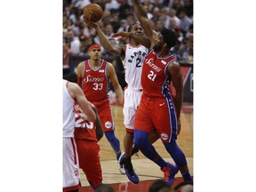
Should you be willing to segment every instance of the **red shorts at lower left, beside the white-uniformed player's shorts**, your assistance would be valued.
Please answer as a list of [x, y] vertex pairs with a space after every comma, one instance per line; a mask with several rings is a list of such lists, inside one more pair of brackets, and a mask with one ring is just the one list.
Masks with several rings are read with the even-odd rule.
[[76, 140], [76, 146], [80, 169], [93, 188], [97, 188], [102, 182], [100, 146], [91, 140]]

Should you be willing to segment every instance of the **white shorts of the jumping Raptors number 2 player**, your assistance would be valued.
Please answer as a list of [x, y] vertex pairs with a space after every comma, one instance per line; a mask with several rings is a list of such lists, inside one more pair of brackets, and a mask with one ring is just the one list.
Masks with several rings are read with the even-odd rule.
[[124, 90], [124, 126], [126, 129], [133, 130], [134, 119], [137, 109], [140, 105], [142, 92], [140, 90], [125, 89]]

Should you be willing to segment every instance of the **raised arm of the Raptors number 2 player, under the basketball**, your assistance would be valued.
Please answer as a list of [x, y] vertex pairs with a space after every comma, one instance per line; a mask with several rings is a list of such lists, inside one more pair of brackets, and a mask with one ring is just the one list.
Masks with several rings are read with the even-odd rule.
[[111, 54], [114, 54], [116, 56], [121, 56], [123, 54], [122, 46], [111, 44], [111, 42], [108, 40], [107, 36], [105, 36], [105, 34], [100, 29], [100, 27], [97, 23], [92, 22], [90, 20], [86, 20], [86, 18], [84, 18], [84, 22], [86, 23], [87, 26], [89, 26], [91, 28], [95, 28], [95, 30], [99, 36], [99, 39], [100, 39], [100, 44], [104, 47], [104, 49], [107, 52], [110, 52]]

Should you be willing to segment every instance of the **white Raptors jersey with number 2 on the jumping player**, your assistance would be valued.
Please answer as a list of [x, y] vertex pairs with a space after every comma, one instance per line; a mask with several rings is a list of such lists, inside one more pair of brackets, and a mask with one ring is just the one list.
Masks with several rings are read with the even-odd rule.
[[125, 82], [130, 89], [141, 89], [141, 71], [142, 65], [148, 49], [143, 46], [132, 46], [126, 44], [125, 58], [122, 60], [125, 70]]

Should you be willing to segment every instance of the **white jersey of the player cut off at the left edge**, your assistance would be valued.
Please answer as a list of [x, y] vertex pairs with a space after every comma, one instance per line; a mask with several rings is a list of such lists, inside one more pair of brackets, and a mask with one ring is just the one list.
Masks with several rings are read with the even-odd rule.
[[74, 137], [75, 101], [68, 93], [68, 81], [63, 79], [63, 137]]

